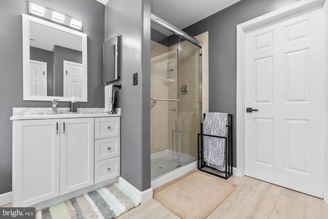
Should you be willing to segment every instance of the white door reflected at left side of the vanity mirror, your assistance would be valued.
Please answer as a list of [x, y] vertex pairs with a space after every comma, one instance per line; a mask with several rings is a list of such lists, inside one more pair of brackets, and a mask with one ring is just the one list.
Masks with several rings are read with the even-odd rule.
[[47, 96], [47, 63], [30, 60], [30, 95]]

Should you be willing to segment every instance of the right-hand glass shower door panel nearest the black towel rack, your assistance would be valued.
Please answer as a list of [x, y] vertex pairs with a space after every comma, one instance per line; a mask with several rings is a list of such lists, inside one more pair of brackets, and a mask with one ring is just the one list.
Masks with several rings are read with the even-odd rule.
[[178, 46], [178, 165], [197, 160], [200, 130], [200, 48], [181, 38]]

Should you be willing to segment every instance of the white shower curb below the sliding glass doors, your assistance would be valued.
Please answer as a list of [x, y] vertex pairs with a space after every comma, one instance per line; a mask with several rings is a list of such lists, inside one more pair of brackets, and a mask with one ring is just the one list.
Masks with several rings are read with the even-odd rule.
[[168, 182], [171, 182], [172, 180], [175, 180], [176, 178], [178, 178], [196, 168], [197, 168], [197, 162], [195, 161], [193, 163], [190, 163], [185, 166], [174, 169], [174, 170], [168, 172], [167, 174], [159, 176], [159, 177], [155, 178], [154, 180], [152, 180], [151, 187], [152, 187], [152, 189], [156, 189], [156, 188], [158, 188]]

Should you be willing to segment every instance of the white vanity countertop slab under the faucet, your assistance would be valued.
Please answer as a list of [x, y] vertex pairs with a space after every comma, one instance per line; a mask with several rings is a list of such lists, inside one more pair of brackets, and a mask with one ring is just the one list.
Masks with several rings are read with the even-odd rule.
[[12, 115], [10, 120], [45, 120], [49, 118], [86, 118], [86, 117], [113, 117], [120, 114], [108, 113], [73, 113], [73, 114], [31, 114], [31, 115]]

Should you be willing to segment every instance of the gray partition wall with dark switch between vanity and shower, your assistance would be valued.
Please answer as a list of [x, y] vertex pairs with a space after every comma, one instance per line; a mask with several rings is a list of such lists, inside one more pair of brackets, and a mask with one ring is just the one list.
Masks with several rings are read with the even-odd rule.
[[[140, 191], [150, 188], [150, 2], [109, 1], [105, 41], [120, 37], [121, 177]], [[132, 74], [138, 73], [133, 86]]]

